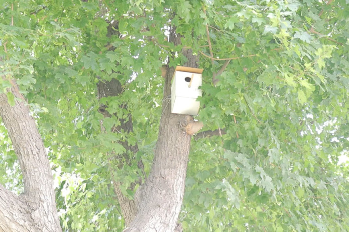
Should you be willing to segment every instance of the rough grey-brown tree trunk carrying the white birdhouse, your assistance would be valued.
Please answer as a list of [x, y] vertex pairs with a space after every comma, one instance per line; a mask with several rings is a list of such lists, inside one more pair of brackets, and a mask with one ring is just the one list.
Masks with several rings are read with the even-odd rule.
[[[180, 44], [172, 28], [170, 41]], [[197, 68], [198, 57], [190, 49], [184, 66]], [[135, 219], [125, 231], [174, 231], [181, 210], [191, 136], [181, 126], [185, 115], [171, 114], [171, 79], [174, 68], [168, 68], [164, 84], [164, 100], [154, 161], [148, 179], [140, 188], [141, 202]], [[184, 128], [185, 130], [185, 128]]]

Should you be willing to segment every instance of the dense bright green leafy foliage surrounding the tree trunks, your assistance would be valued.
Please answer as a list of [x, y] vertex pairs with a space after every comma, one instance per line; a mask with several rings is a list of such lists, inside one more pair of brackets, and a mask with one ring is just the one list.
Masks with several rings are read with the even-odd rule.
[[[116, 21], [121, 35], [110, 35]], [[150, 170], [168, 97], [160, 67], [183, 64], [189, 47], [204, 68], [196, 119], [203, 130], [225, 133], [192, 139], [184, 230], [349, 230], [348, 168], [338, 164], [349, 144], [345, 1], [14, 0], [1, 4], [0, 22], [0, 75], [7, 78], [0, 91], [16, 78], [28, 99], [64, 230], [121, 230], [109, 165], [119, 167], [114, 174], [131, 198], [137, 160]], [[174, 26], [181, 46], [168, 42]], [[123, 94], [99, 100], [97, 82], [112, 78]], [[115, 116], [104, 119], [97, 109], [106, 102]], [[100, 120], [110, 131], [128, 113], [129, 136], [101, 131]], [[0, 138], [0, 182], [21, 192], [2, 124]], [[133, 163], [105, 155], [123, 153], [122, 140], [138, 144]]]

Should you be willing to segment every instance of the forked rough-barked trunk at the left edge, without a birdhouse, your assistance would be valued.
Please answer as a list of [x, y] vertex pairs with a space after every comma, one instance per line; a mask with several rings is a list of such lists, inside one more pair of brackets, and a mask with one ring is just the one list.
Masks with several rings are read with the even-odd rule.
[[12, 85], [7, 91], [15, 96], [15, 105], [0, 94], [0, 116], [22, 170], [24, 194], [17, 196], [0, 186], [0, 231], [62, 231], [43, 141], [15, 81]]

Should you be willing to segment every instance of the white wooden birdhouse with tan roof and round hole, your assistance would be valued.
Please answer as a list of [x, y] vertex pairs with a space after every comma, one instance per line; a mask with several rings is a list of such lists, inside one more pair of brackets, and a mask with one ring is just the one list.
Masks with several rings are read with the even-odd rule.
[[171, 112], [196, 115], [199, 112], [203, 69], [177, 66], [172, 77]]

